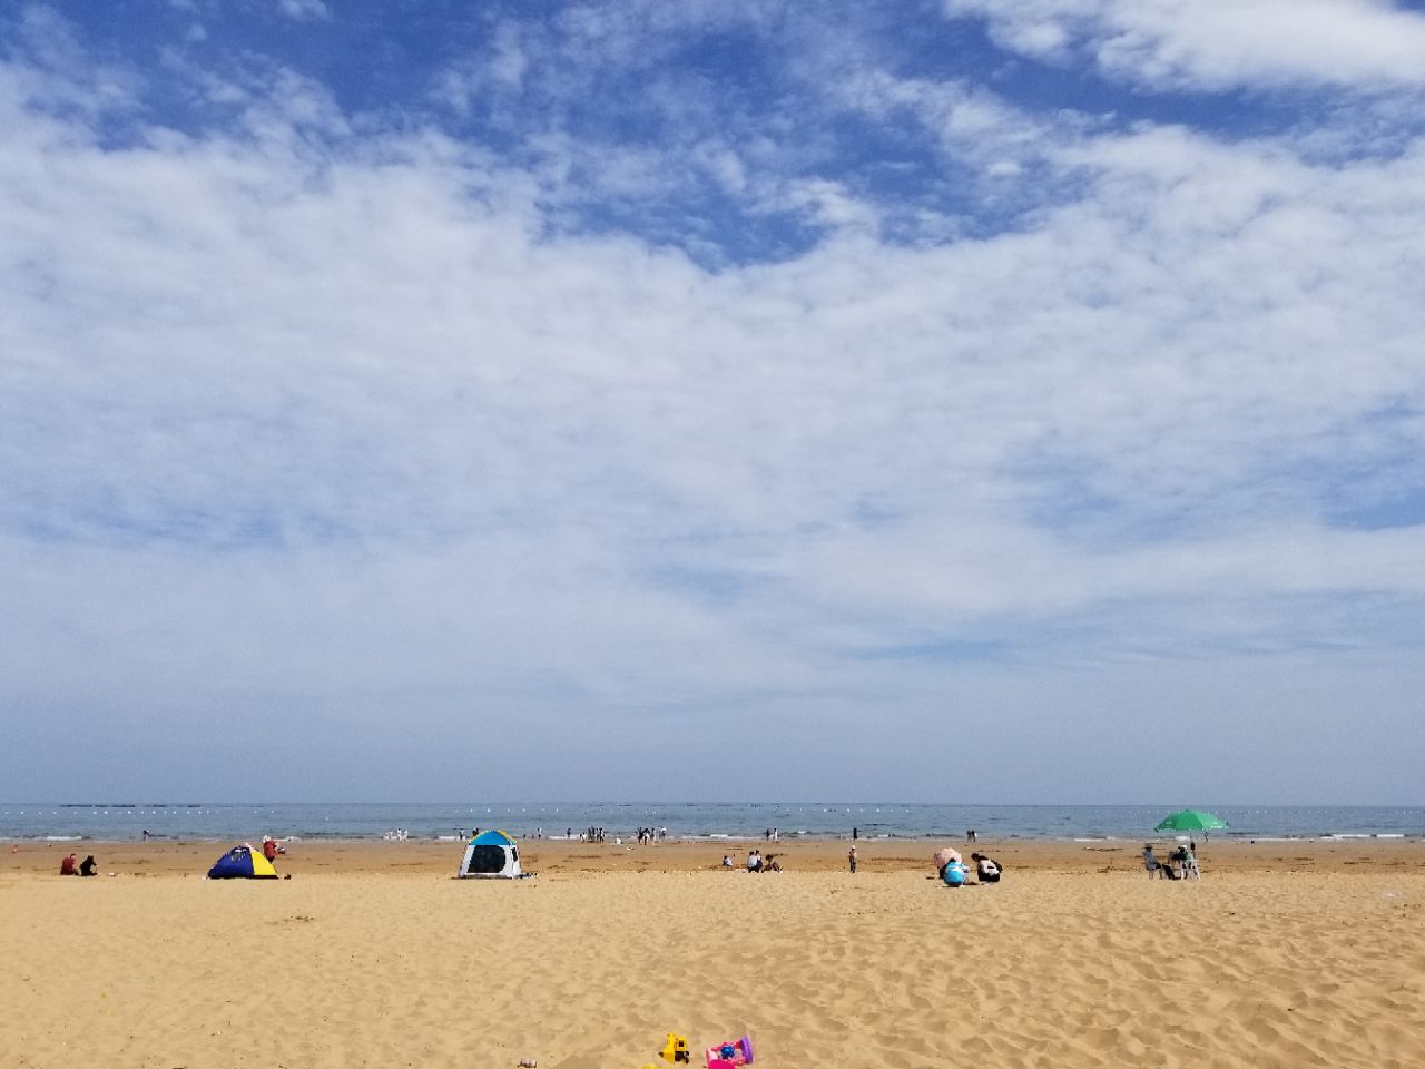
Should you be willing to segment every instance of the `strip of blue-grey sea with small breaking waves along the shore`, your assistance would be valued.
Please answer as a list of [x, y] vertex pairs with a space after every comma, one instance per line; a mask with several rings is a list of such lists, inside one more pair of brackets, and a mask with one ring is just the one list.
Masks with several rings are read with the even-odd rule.
[[[0, 802], [0, 840], [456, 840], [476, 828], [517, 838], [576, 838], [587, 828], [630, 837], [640, 827], [670, 840], [1139, 840], [1180, 805], [926, 805], [911, 802]], [[1223, 838], [1425, 837], [1425, 807], [1201, 805], [1226, 820]]]

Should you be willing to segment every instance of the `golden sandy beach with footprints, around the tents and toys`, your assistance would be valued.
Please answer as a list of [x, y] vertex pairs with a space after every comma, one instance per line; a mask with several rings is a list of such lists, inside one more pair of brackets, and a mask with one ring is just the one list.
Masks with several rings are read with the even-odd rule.
[[[0, 858], [3, 1066], [637, 1069], [664, 1032], [751, 1032], [768, 1069], [1425, 1066], [1425, 851], [1213, 844], [1197, 884], [1133, 845], [527, 844], [536, 879], [455, 881], [457, 844], [296, 844], [279, 882], [212, 844], [87, 845], [114, 877]], [[745, 847], [737, 857], [745, 857]], [[701, 1063], [701, 1058], [697, 1059]]]

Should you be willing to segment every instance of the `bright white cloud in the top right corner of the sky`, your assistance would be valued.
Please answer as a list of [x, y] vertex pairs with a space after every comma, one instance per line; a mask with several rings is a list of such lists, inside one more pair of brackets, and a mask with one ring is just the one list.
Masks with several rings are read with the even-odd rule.
[[1163, 87], [1425, 84], [1425, 16], [1388, 0], [945, 0], [995, 38], [1054, 58], [1083, 47], [1104, 74]]

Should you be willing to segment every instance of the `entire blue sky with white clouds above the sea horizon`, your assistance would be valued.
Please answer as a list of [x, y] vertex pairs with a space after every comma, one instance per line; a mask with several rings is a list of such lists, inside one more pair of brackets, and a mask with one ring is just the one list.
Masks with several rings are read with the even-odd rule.
[[11, 6], [0, 274], [10, 797], [1421, 801], [1425, 4]]

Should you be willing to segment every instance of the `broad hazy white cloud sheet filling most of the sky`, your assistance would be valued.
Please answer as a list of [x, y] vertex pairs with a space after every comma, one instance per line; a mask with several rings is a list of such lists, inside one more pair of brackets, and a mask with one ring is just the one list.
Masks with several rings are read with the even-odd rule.
[[[1037, 137], [868, 81], [868, 111], [1076, 195], [908, 248], [878, 202], [704, 140], [690, 168], [825, 234], [708, 271], [551, 225], [557, 178], [370, 133], [291, 74], [221, 83], [229, 133], [127, 147], [37, 111], [36, 80], [0, 68], [0, 707], [221, 731], [321, 704], [372, 738], [410, 704], [449, 738], [473, 704], [529, 743], [581, 723], [561, 701], [781, 741], [892, 708], [901, 750], [868, 743], [892, 784], [956, 684], [1092, 708], [1113, 683], [1074, 673], [1167, 701], [1116, 666], [1260, 656], [1290, 683], [1328, 674], [1302, 650], [1365, 650], [1387, 717], [1379, 681], [1418, 678], [1422, 526], [1332, 500], [1418, 465], [1418, 143]], [[610, 188], [678, 181], [614, 155]], [[896, 656], [975, 641], [1010, 668]]]

